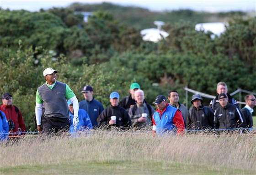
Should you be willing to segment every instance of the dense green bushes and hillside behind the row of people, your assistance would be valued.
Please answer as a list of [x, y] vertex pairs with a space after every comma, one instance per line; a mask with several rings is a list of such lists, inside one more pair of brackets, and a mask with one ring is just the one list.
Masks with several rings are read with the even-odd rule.
[[[79, 11], [93, 16], [85, 22], [75, 13]], [[158, 43], [143, 41], [140, 30], [155, 27], [155, 20], [165, 21], [163, 29], [170, 35]], [[215, 39], [211, 32], [194, 29], [196, 23], [221, 21], [229, 26]], [[0, 94], [13, 95], [32, 130], [35, 94], [45, 82], [47, 67], [59, 71], [58, 80], [67, 83], [79, 101], [83, 86], [90, 84], [105, 108], [112, 91], [124, 98], [132, 82], [141, 85], [148, 103], [171, 89], [186, 103], [185, 86], [215, 95], [220, 81], [229, 92], [256, 91], [256, 18], [244, 12], [152, 12], [75, 3], [40, 12], [2, 9], [0, 26]]]

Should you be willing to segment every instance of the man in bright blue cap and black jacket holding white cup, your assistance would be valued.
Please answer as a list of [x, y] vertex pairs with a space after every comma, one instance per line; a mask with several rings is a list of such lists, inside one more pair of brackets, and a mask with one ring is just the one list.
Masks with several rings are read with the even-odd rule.
[[[112, 92], [109, 96], [109, 101], [111, 103], [110, 107], [104, 109], [100, 114], [99, 126], [116, 126], [120, 129], [125, 129], [132, 126], [131, 118], [124, 108], [118, 105], [119, 94], [117, 92]], [[112, 116], [116, 116], [116, 120], [112, 119]]]

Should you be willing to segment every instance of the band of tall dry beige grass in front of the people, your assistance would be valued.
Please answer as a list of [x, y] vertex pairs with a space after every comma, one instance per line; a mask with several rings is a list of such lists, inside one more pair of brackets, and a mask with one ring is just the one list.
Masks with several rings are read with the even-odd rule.
[[0, 145], [0, 167], [82, 162], [181, 162], [256, 170], [256, 135], [161, 136], [94, 131], [78, 138], [25, 137]]

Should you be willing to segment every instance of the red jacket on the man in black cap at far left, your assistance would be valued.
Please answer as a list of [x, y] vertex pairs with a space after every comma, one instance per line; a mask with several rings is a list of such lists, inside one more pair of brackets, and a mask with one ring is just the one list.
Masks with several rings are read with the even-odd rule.
[[[12, 129], [11, 133], [19, 132], [18, 128], [21, 128], [21, 132], [26, 132], [26, 126], [24, 123], [24, 120], [21, 115], [21, 111], [19, 110], [19, 114], [16, 112], [15, 107], [13, 105], [6, 106], [5, 104], [2, 104], [0, 107], [0, 110], [3, 111], [6, 115], [7, 120], [12, 120], [15, 125], [15, 129]], [[13, 134], [10, 134], [12, 136]]]

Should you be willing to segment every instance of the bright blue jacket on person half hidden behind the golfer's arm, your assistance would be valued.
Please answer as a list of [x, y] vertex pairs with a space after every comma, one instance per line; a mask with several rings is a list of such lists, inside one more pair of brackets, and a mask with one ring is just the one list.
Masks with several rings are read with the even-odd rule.
[[89, 118], [88, 113], [86, 113], [84, 109], [78, 110], [79, 123], [76, 128], [76, 131], [74, 131], [73, 118], [74, 118], [74, 115], [69, 111], [69, 121], [70, 121], [69, 132], [70, 133], [92, 129], [91, 120]]

